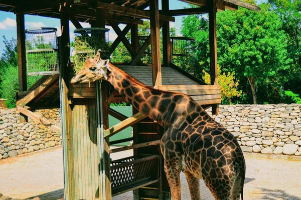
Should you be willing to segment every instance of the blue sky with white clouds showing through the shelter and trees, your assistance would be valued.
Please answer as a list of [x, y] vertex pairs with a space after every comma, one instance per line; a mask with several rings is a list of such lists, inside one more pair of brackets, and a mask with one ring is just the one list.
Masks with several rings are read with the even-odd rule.
[[[257, 0], [258, 4], [266, 0]], [[171, 3], [172, 2], [172, 3]], [[159, 9], [161, 9], [161, 0], [159, 0]], [[170, 9], [181, 9], [188, 7], [188, 4], [181, 2], [179, 0], [170, 1]], [[171, 26], [175, 26], [177, 29], [177, 34], [180, 34], [182, 26], [183, 16], [176, 16], [176, 21], [171, 22]], [[89, 23], [81, 23], [83, 27], [90, 27]], [[123, 29], [125, 25], [120, 24], [119, 27]], [[36, 27], [56, 27], [58, 29], [58, 36], [60, 36], [60, 20], [49, 17], [34, 16], [34, 15], [25, 15], [25, 29], [36, 28]], [[114, 30], [109, 28], [109, 39], [114, 40], [117, 35]], [[75, 30], [74, 25], [70, 22], [70, 38], [74, 38], [73, 31]], [[5, 47], [3, 43], [3, 35], [6, 36], [8, 40], [11, 38], [17, 38], [17, 27], [16, 27], [16, 15], [12, 12], [0, 11], [0, 54], [3, 53]]]

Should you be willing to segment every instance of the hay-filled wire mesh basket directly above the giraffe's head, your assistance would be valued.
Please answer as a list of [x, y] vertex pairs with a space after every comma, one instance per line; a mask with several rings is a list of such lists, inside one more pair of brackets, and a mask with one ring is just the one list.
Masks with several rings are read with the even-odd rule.
[[97, 50], [101, 49], [101, 58], [108, 59], [110, 57], [108, 28], [79, 28], [74, 30], [75, 54], [72, 56], [74, 69], [80, 70], [87, 56], [94, 57]]

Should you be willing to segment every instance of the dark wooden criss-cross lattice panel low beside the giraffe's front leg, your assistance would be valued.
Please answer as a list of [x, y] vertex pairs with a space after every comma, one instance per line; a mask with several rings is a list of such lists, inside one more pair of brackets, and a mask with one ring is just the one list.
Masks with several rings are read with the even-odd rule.
[[113, 160], [111, 162], [113, 193], [141, 181], [157, 179], [158, 163], [159, 155], [140, 155]]

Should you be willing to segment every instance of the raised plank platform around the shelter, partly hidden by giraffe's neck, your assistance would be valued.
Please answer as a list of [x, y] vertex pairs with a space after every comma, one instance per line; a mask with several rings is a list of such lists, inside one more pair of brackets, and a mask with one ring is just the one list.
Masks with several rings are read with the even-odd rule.
[[[137, 78], [148, 86], [152, 86], [152, 67], [117, 65], [120, 69]], [[69, 70], [70, 79], [74, 76], [72, 67]], [[188, 77], [173, 67], [162, 67], [163, 85], [157, 89], [186, 93], [199, 104], [213, 104], [221, 102], [219, 85], [207, 85], [196, 77]], [[203, 84], [200, 84], [203, 83]], [[34, 92], [33, 92], [34, 91]], [[122, 102], [124, 99], [113, 93], [110, 102]], [[70, 98], [95, 98], [95, 83], [69, 84], [68, 96]], [[18, 103], [34, 109], [59, 107], [59, 81], [58, 74], [45, 75], [28, 91], [18, 92]]]

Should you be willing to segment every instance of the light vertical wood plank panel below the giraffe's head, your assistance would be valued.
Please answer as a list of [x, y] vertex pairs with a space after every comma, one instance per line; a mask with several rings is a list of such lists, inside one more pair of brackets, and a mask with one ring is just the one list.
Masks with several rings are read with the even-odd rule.
[[96, 99], [74, 98], [73, 106], [74, 199], [99, 199]]

